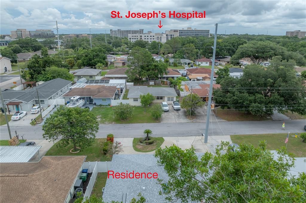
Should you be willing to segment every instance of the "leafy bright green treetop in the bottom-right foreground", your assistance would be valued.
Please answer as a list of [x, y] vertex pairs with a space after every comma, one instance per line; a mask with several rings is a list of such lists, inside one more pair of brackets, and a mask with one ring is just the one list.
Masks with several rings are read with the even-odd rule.
[[167, 201], [187, 202], [305, 202], [306, 175], [288, 179], [294, 159], [285, 148], [278, 159], [266, 149], [242, 144], [232, 151], [229, 142], [216, 147], [215, 154], [199, 156], [195, 148], [182, 150], [173, 145], [155, 150], [158, 164], [169, 179], [159, 180]]

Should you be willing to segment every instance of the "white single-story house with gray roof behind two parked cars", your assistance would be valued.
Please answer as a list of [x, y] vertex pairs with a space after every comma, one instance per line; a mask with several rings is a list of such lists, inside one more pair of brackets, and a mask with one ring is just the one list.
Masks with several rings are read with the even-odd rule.
[[155, 96], [154, 103], [167, 102], [172, 103], [176, 100], [177, 93], [172, 87], [147, 87], [147, 86], [132, 86], [129, 89], [128, 99], [133, 106], [141, 106], [140, 95], [150, 93]]

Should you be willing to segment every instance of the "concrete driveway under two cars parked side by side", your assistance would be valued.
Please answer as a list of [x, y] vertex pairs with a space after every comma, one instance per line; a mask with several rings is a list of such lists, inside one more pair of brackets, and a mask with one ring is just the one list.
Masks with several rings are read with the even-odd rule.
[[180, 111], [173, 110], [171, 104], [169, 105], [169, 111], [162, 114], [162, 123], [187, 123], [192, 122], [186, 117], [186, 110]]

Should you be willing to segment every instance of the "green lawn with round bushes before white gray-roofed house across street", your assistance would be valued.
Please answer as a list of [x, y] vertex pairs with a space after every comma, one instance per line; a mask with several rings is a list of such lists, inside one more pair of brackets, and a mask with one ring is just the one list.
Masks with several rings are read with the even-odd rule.
[[110, 123], [159, 123], [160, 120], [155, 120], [149, 113], [149, 108], [144, 111], [144, 107], [135, 107], [134, 115], [126, 121], [122, 121], [118, 118], [114, 118], [112, 107], [94, 107], [91, 112], [93, 112], [100, 123], [110, 124]]

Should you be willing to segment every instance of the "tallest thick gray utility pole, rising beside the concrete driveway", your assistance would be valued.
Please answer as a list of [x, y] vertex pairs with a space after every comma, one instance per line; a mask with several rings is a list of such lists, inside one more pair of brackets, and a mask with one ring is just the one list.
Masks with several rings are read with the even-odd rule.
[[214, 79], [214, 68], [215, 68], [215, 58], [216, 58], [216, 44], [217, 44], [217, 30], [218, 30], [218, 23], [215, 24], [216, 30], [215, 30], [215, 40], [214, 40], [214, 49], [213, 55], [212, 55], [212, 65], [211, 65], [211, 83], [209, 87], [209, 97], [208, 97], [208, 104], [207, 104], [207, 118], [206, 118], [206, 128], [205, 128], [205, 134], [204, 134], [204, 143], [207, 143], [208, 140], [208, 129], [209, 129], [209, 116], [211, 111], [211, 96], [212, 96], [212, 84]]

